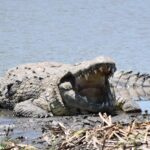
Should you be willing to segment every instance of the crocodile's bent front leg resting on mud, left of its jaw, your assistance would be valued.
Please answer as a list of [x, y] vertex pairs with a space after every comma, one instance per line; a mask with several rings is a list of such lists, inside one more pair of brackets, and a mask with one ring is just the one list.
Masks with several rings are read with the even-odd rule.
[[16, 104], [14, 112], [23, 117], [50, 117], [66, 115], [65, 106], [57, 94], [57, 87], [47, 88], [37, 99], [29, 99]]

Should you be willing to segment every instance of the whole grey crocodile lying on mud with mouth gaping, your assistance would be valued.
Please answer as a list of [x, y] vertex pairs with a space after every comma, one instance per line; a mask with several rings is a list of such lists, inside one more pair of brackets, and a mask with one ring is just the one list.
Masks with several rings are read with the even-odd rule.
[[149, 93], [149, 75], [115, 71], [115, 62], [103, 56], [77, 64], [20, 65], [0, 79], [0, 108], [23, 117], [112, 113], [120, 104], [126, 112], [141, 111], [132, 94], [120, 92], [145, 87]]

